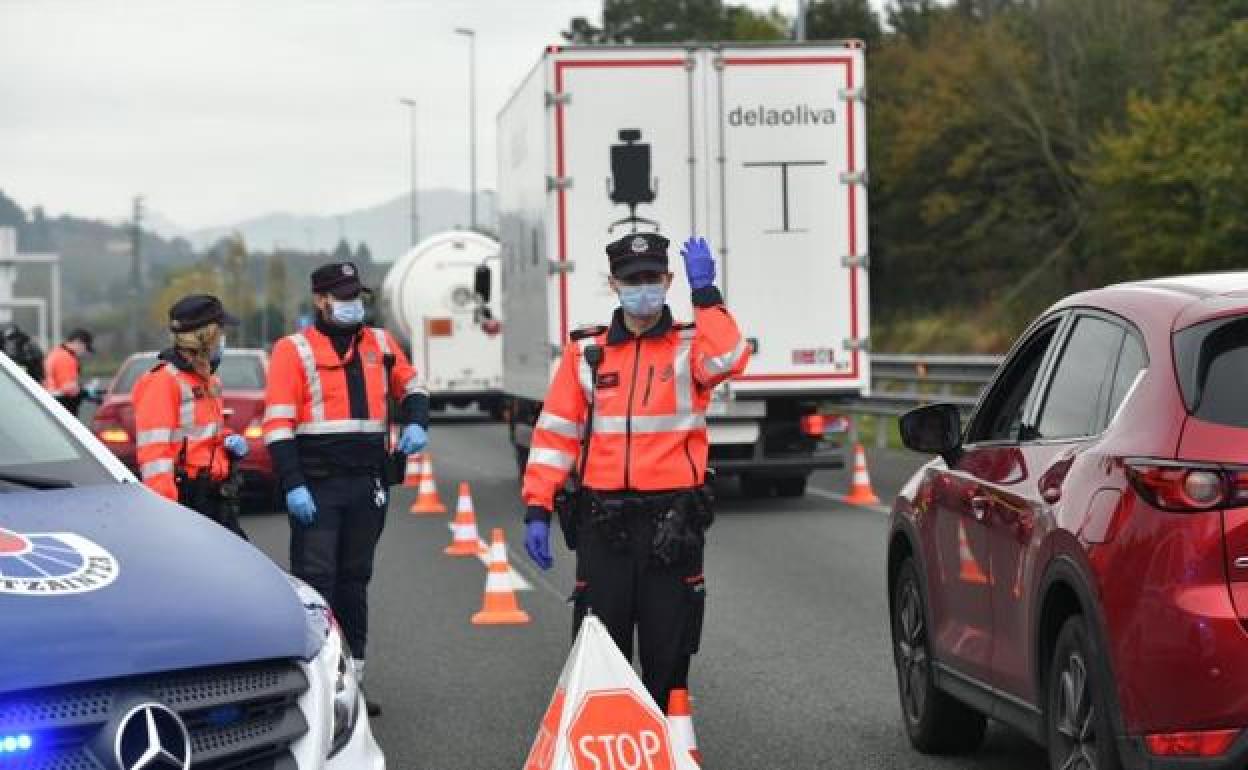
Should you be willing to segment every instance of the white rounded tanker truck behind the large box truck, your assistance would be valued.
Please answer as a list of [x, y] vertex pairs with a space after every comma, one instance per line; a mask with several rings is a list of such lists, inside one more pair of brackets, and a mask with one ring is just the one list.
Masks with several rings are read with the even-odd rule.
[[434, 409], [473, 403], [495, 419], [503, 408], [498, 271], [483, 288], [475, 275], [498, 265], [498, 241], [469, 231], [431, 236], [394, 261], [382, 281], [392, 328], [408, 342]]

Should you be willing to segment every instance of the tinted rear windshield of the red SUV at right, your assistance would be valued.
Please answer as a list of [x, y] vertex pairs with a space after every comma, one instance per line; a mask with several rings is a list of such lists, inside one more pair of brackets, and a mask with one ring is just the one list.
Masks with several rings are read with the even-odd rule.
[[1248, 428], [1248, 316], [1217, 318], [1176, 333], [1174, 362], [1193, 417]]

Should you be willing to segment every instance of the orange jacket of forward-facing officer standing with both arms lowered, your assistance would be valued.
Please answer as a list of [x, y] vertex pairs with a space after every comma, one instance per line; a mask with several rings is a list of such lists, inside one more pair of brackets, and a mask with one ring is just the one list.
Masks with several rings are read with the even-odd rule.
[[[366, 413], [352, 414], [347, 364], [359, 356]], [[394, 356], [389, 382], [384, 357]], [[265, 443], [295, 437], [383, 434], [386, 399], [427, 393], [424, 383], [389, 332], [362, 328], [346, 357], [316, 327], [282, 337], [273, 346], [265, 397]]]

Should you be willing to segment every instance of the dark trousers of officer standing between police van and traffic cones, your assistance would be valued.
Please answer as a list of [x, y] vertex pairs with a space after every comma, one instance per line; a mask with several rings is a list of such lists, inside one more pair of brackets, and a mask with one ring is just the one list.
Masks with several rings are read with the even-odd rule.
[[368, 583], [386, 524], [388, 490], [372, 475], [308, 479], [316, 522], [291, 520], [291, 572], [321, 592], [354, 658], [368, 645]]

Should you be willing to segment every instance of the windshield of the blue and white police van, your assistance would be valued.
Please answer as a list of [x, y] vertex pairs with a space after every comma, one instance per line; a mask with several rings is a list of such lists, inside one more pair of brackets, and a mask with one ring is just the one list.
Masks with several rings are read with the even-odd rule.
[[20, 489], [14, 477], [62, 479], [74, 485], [116, 483], [109, 472], [42, 407], [12, 373], [0, 366], [0, 494]]

